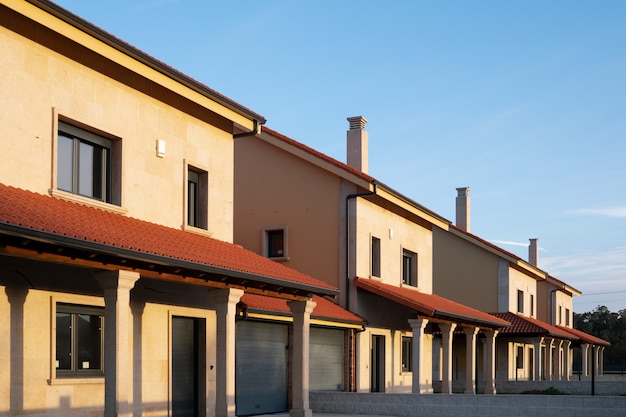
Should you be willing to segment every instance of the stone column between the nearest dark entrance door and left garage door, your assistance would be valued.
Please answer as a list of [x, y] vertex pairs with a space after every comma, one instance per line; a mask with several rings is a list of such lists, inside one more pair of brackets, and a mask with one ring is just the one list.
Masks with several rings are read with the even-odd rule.
[[235, 319], [243, 290], [224, 288], [211, 291], [217, 313], [215, 415], [235, 416]]

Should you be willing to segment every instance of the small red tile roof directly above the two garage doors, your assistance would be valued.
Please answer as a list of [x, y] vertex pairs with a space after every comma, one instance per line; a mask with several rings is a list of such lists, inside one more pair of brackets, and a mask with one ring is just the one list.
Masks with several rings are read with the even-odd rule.
[[[324, 297], [314, 296], [313, 301], [317, 303], [311, 317], [340, 321], [347, 323], [365, 324], [365, 319], [348, 311]], [[244, 294], [241, 302], [250, 309], [262, 310], [274, 313], [291, 313], [287, 300], [274, 297], [265, 297], [256, 294]]]

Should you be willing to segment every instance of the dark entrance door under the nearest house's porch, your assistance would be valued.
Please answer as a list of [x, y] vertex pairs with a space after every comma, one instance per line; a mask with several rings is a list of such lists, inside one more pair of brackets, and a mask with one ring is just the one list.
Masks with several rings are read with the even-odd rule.
[[172, 317], [172, 416], [204, 416], [204, 320]]

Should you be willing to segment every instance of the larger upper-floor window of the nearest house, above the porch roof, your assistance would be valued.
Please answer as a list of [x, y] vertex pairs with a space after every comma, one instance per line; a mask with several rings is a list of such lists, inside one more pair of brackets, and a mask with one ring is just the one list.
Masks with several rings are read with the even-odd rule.
[[113, 141], [59, 122], [57, 188], [119, 205], [113, 189]]

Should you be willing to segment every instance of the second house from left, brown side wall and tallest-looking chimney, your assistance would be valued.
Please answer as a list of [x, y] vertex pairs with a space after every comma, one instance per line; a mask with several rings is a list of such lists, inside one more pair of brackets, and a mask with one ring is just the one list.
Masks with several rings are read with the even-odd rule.
[[[450, 222], [369, 176], [366, 120], [348, 120], [347, 164], [265, 127], [235, 141], [235, 242], [340, 288], [367, 320], [345, 347], [344, 390], [451, 392], [456, 332], [495, 392], [494, 340], [509, 323], [433, 295], [433, 230]], [[466, 382], [475, 392], [473, 373]]]

